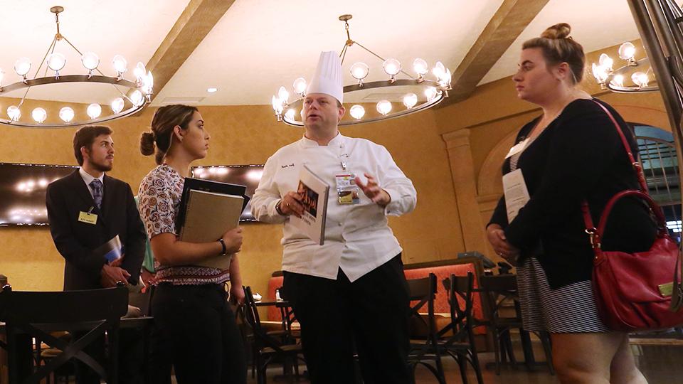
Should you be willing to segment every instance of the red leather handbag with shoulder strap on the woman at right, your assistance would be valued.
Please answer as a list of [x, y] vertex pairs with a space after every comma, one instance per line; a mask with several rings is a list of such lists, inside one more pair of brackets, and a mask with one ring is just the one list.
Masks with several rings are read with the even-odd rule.
[[[635, 161], [619, 124], [607, 108], [595, 102], [608, 114], [619, 132], [642, 191], [627, 190], [610, 198], [600, 216], [598, 228], [593, 225], [588, 203], [583, 202], [586, 233], [591, 236], [593, 259], [593, 292], [600, 319], [614, 331], [665, 329], [683, 324], [683, 292], [680, 283], [681, 253], [666, 227], [664, 214], [647, 194], [647, 183], [640, 164]], [[621, 198], [642, 198], [655, 214], [659, 230], [646, 252], [603, 251], [600, 239], [614, 204]]]

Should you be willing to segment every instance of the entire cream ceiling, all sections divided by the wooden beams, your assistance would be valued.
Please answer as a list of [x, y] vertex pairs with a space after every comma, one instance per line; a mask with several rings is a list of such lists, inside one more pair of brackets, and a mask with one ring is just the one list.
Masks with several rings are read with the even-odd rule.
[[[5, 0], [0, 23], [0, 68], [4, 84], [18, 80], [14, 60], [31, 58], [34, 67], [43, 58], [55, 33], [53, 5], [65, 7], [60, 15], [62, 33], [80, 50], [100, 55], [100, 68], [112, 74], [111, 59], [122, 54], [132, 69], [154, 55], [190, 0]], [[192, 0], [196, 1], [196, 0]], [[300, 76], [309, 77], [321, 50], [339, 51], [346, 41], [339, 15], [353, 14], [351, 38], [384, 57], [397, 58], [411, 68], [420, 57], [436, 60], [454, 71], [477, 41], [503, 0], [236, 0], [169, 82], [156, 89], [154, 105], [196, 102], [197, 105], [269, 104], [280, 85], [291, 88]], [[489, 70], [481, 83], [512, 75], [521, 43], [538, 36], [546, 26], [566, 21], [573, 37], [586, 51], [637, 38], [635, 23], [623, 0], [550, 0]], [[82, 73], [78, 54], [67, 54], [63, 73]], [[354, 46], [344, 61], [364, 61], [371, 67], [368, 80], [386, 78], [381, 61]], [[41, 71], [42, 75], [42, 71]], [[127, 74], [130, 78], [131, 73]], [[353, 79], [345, 69], [345, 83]], [[208, 93], [208, 87], [218, 92]], [[103, 102], [115, 97], [107, 86], [55, 85], [36, 87], [32, 98], [75, 102]], [[16, 96], [16, 94], [12, 95]], [[93, 100], [93, 98], [95, 100]], [[2, 114], [3, 111], [0, 111]]]

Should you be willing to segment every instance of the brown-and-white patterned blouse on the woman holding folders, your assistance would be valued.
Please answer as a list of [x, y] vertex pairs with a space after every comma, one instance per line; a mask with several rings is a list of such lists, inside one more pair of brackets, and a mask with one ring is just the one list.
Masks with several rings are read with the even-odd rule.
[[[180, 206], [185, 179], [170, 166], [162, 164], [149, 171], [140, 183], [138, 191], [140, 217], [147, 229], [149, 238], [160, 233], [176, 233], [176, 217]], [[227, 270], [216, 268], [159, 265], [154, 257], [157, 269], [156, 280], [172, 284], [222, 284], [230, 279]]]

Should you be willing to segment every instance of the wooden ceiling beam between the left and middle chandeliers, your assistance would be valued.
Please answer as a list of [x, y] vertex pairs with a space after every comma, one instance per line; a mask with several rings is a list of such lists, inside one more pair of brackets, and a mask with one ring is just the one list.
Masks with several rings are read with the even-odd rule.
[[154, 96], [164, 88], [235, 0], [191, 0], [145, 66], [154, 75]]

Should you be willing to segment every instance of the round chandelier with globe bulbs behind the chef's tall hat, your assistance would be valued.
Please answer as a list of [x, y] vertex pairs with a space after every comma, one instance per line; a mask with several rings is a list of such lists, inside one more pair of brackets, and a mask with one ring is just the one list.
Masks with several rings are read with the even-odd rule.
[[[350, 106], [350, 108], [346, 107], [346, 109], [349, 110], [351, 118], [343, 119], [342, 122], [339, 123], [340, 126], [376, 122], [379, 120], [405, 116], [433, 107], [445, 97], [448, 97], [448, 91], [451, 89], [451, 73], [441, 62], [437, 62], [435, 68], [432, 70], [435, 77], [434, 80], [426, 78], [426, 75], [429, 74], [429, 66], [427, 62], [421, 58], [413, 60], [412, 69], [415, 71], [415, 75], [411, 75], [403, 69], [401, 62], [396, 58], [383, 58], [364, 47], [358, 41], [351, 40], [349, 33], [349, 20], [351, 20], [351, 17], [351, 15], [339, 16], [339, 20], [344, 21], [344, 28], [346, 29], [346, 42], [344, 43], [344, 48], [342, 48], [342, 53], [339, 54], [339, 57], [342, 58], [342, 66], [344, 65], [344, 58], [346, 57], [347, 50], [349, 47], [356, 45], [367, 53], [370, 53], [374, 58], [381, 60], [382, 71], [388, 75], [388, 79], [364, 81], [370, 73], [370, 66], [363, 62], [356, 62], [351, 65], [348, 70], [351, 73], [351, 77], [358, 80], [358, 82], [352, 85], [346, 85], [344, 87], [344, 95], [351, 92], [375, 88], [388, 93], [396, 93], [396, 90], [388, 88], [401, 87], [398, 88], [401, 90], [399, 92], [403, 92], [402, 94], [406, 96], [403, 97], [402, 100], [392, 101], [396, 101], [396, 106], [403, 105], [405, 108], [394, 108], [394, 105], [392, 105], [390, 100], [381, 100], [381, 102], [376, 104], [376, 113], [374, 111], [366, 113], [363, 106], [349, 102], [349, 104], [353, 105]], [[398, 78], [400, 75], [403, 75], [405, 78]], [[411, 87], [411, 92], [406, 93], [406, 87]], [[277, 90], [276, 95], [273, 96], [271, 100], [272, 109], [275, 111], [277, 121], [285, 122], [286, 124], [295, 127], [303, 127], [303, 121], [301, 119], [296, 119], [297, 115], [292, 114], [289, 111], [292, 109], [301, 110], [305, 97], [305, 90], [305, 78], [297, 78], [297, 80], [295, 80], [294, 92], [292, 93], [287, 92], [285, 87], [280, 87], [280, 89]], [[294, 95], [295, 100], [290, 101], [290, 95]], [[344, 100], [346, 100], [346, 96], [344, 96]]]

